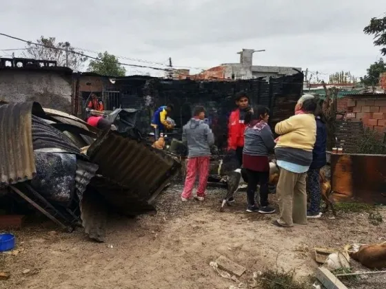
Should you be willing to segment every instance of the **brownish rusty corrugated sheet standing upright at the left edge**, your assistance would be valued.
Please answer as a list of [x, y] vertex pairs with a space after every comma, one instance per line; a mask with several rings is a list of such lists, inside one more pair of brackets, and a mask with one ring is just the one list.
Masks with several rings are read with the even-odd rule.
[[39, 103], [34, 102], [0, 106], [0, 185], [31, 180], [36, 173], [32, 112], [44, 114]]

